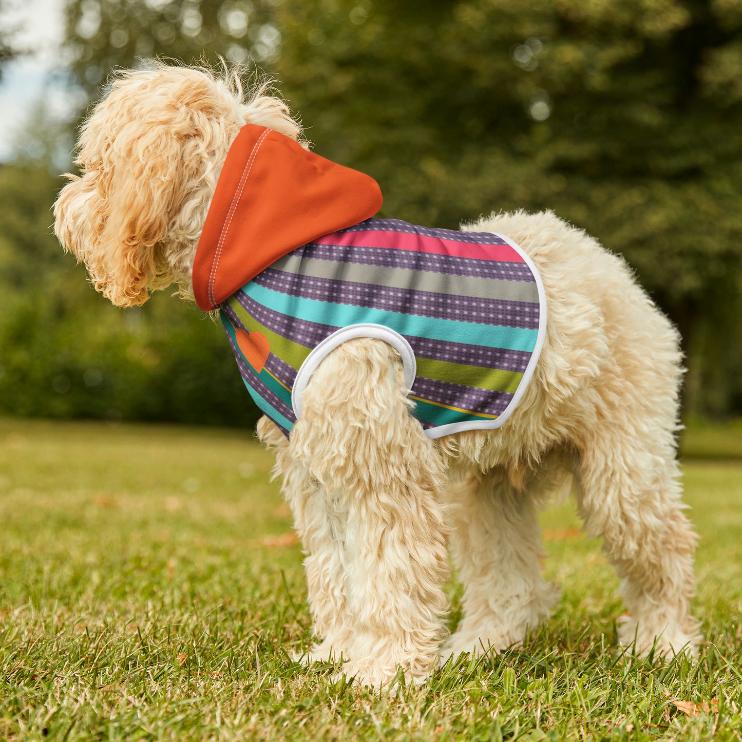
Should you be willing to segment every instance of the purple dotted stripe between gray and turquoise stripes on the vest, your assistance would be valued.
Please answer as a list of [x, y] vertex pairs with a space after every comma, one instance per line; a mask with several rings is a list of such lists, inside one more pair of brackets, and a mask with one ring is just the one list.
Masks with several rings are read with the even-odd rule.
[[364, 306], [441, 320], [539, 329], [539, 305], [528, 301], [454, 297], [430, 291], [315, 278], [272, 268], [267, 268], [253, 280], [266, 289], [315, 301]]

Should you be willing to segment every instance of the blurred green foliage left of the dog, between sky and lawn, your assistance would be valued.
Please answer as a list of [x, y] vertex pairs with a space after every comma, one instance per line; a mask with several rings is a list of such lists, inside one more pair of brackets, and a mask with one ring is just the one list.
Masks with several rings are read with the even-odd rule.
[[58, 188], [33, 162], [0, 167], [0, 413], [252, 424], [219, 326], [164, 293], [116, 309], [63, 255]]

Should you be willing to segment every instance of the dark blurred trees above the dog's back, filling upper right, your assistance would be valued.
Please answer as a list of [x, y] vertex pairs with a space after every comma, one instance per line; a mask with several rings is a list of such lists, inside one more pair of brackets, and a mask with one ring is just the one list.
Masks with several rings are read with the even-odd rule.
[[[742, 407], [742, 5], [318, 0], [278, 9], [283, 92], [384, 211], [553, 209], [680, 326], [688, 403]], [[355, 28], [354, 28], [355, 26]]]

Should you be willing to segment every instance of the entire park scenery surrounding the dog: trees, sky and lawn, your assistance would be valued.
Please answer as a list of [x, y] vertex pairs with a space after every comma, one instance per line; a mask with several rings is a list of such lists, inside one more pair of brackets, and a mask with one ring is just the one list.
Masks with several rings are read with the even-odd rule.
[[[384, 216], [553, 209], [626, 257], [683, 335], [699, 657], [617, 646], [568, 500], [522, 649], [397, 697], [295, 661], [301, 546], [222, 329], [116, 309], [50, 226], [87, 106], [153, 55], [275, 76]], [[0, 738], [742, 742], [740, 0], [0, 0], [0, 76]]]

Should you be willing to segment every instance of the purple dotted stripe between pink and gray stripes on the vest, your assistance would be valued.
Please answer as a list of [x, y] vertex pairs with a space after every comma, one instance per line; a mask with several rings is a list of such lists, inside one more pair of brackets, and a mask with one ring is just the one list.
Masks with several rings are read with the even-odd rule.
[[498, 278], [533, 283], [531, 269], [525, 263], [505, 263], [499, 260], [476, 260], [473, 257], [436, 255], [434, 252], [397, 250], [387, 247], [361, 245], [317, 245], [309, 243], [294, 253], [315, 260], [333, 263], [356, 263], [363, 266], [403, 268], [411, 271], [444, 273], [447, 275], [473, 276], [474, 278]]

